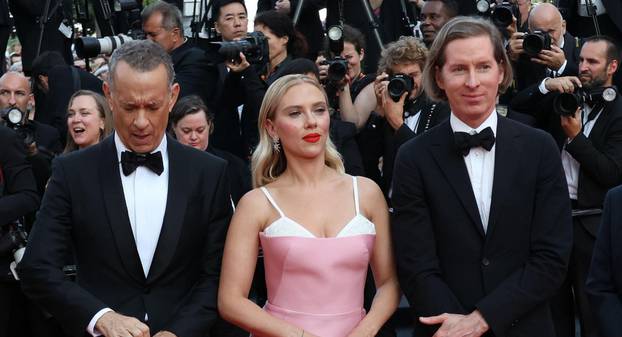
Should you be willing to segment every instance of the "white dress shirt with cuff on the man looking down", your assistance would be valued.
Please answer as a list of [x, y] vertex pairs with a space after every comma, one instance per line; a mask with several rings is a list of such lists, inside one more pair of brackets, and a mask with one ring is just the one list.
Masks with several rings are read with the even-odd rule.
[[[162, 138], [160, 145], [153, 151], [160, 151], [162, 154], [164, 171], [160, 175], [144, 166], [138, 166], [136, 171], [125, 176], [121, 168], [121, 153], [128, 151], [128, 149], [117, 133], [114, 134], [114, 143], [119, 160], [119, 174], [121, 175], [127, 215], [130, 219], [143, 273], [147, 277], [158, 245], [158, 238], [160, 237], [160, 230], [162, 229], [166, 211], [169, 175], [166, 136]], [[87, 331], [91, 335], [101, 336], [101, 333], [95, 331], [95, 323], [109, 311], [112, 311], [112, 309], [105, 308], [93, 316], [87, 327]], [[146, 315], [145, 318], [147, 318]]]

